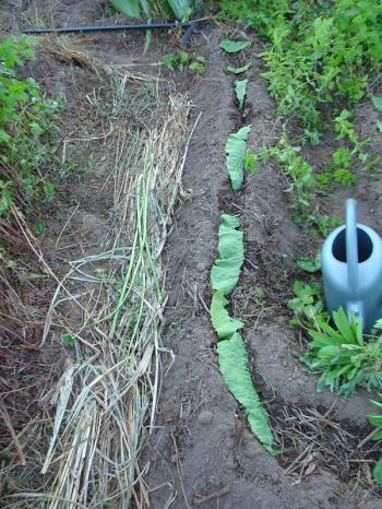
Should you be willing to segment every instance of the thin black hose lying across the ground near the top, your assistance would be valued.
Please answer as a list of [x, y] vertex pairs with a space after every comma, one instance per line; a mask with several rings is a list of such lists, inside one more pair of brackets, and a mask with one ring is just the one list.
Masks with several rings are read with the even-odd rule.
[[118, 32], [118, 31], [130, 31], [130, 29], [164, 29], [164, 28], [177, 28], [179, 26], [189, 28], [194, 22], [190, 21], [187, 23], [171, 22], [171, 23], [139, 23], [130, 25], [93, 25], [93, 26], [57, 26], [45, 27], [45, 28], [22, 28], [23, 34], [71, 34], [75, 32]]

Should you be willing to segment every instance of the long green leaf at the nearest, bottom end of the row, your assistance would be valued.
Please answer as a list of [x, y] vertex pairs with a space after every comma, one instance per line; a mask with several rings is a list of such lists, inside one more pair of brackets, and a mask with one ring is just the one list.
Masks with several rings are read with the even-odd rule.
[[246, 409], [253, 435], [265, 450], [275, 454], [272, 430], [265, 409], [252, 384], [248, 370], [248, 355], [241, 335], [236, 332], [228, 340], [219, 341], [217, 355], [223, 378], [236, 400]]

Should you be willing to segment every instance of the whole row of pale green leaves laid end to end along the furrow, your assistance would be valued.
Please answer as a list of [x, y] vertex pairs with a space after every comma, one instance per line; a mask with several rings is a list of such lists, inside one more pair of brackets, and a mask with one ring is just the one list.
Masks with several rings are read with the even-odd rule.
[[[227, 52], [244, 49], [248, 42], [239, 43], [225, 39], [220, 48]], [[235, 92], [240, 108], [243, 107], [247, 80], [236, 83]], [[226, 143], [226, 164], [232, 189], [239, 190], [243, 181], [247, 140], [251, 126], [231, 133]], [[223, 214], [218, 229], [219, 258], [211, 270], [213, 295], [211, 299], [211, 321], [219, 339], [217, 343], [218, 364], [228, 389], [244, 409], [253, 435], [271, 454], [274, 454], [274, 439], [264, 406], [253, 387], [249, 370], [249, 359], [244, 341], [239, 332], [244, 323], [232, 318], [227, 311], [228, 297], [235, 289], [241, 265], [244, 261], [243, 233], [238, 229], [237, 216]]]

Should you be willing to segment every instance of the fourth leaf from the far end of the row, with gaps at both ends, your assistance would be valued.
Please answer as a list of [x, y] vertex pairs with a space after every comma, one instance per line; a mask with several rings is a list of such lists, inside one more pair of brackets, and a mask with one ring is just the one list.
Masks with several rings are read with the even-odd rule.
[[247, 140], [252, 126], [244, 126], [229, 134], [226, 143], [227, 170], [234, 191], [238, 191], [244, 179], [244, 158], [247, 153]]

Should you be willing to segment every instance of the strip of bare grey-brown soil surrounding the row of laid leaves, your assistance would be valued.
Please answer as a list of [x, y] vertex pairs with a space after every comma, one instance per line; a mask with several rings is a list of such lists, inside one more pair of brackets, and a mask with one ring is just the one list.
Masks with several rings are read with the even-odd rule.
[[[228, 60], [218, 49], [219, 36], [218, 31], [211, 35], [207, 73], [193, 97], [194, 118], [200, 111], [202, 117], [183, 179], [184, 187], [192, 188], [193, 193], [178, 211], [167, 246], [172, 276], [165, 343], [176, 357], [164, 381], [159, 430], [150, 450], [152, 505], [162, 509], [175, 498], [171, 507], [176, 509], [382, 507], [357, 484], [356, 490], [349, 492], [344, 482], [349, 473], [341, 472], [335, 459], [327, 465], [323, 463], [322, 448], [335, 457], [341, 446], [331, 426], [322, 424], [322, 414], [326, 412], [326, 417], [336, 421], [332, 426], [337, 429], [347, 424], [355, 447], [357, 431], [361, 435], [366, 426], [366, 399], [357, 395], [346, 402], [333, 394], [318, 394], [315, 379], [303, 374], [296, 360], [297, 344], [287, 325], [285, 303], [290, 297], [290, 282], [296, 279], [291, 253], [306, 248], [306, 240], [291, 222], [284, 192], [286, 182], [275, 168], [262, 168], [247, 177], [242, 192], [234, 194], [225, 168], [226, 139], [242, 123], [253, 125], [251, 150], [260, 150], [264, 141], [272, 143], [277, 138], [275, 108], [255, 60], [250, 73], [248, 109], [243, 117], [238, 116], [234, 80], [223, 72]], [[259, 50], [256, 46], [253, 51]], [[231, 300], [235, 316], [246, 320], [244, 340], [255, 386], [270, 411], [277, 440], [284, 443], [279, 464], [248, 431], [216, 363], [216, 338], [206, 308], [210, 268], [216, 251], [219, 215], [224, 212], [239, 213], [243, 223], [247, 261]], [[253, 295], [255, 287], [262, 288], [261, 303]], [[299, 448], [306, 443], [299, 440], [299, 431], [295, 443], [288, 435], [288, 426], [294, 429], [294, 419], [301, 418], [299, 411], [318, 412], [319, 416], [312, 419], [318, 423], [320, 447], [323, 443], [321, 448], [308, 443], [300, 457]], [[307, 433], [307, 427], [303, 429]], [[348, 446], [346, 441], [343, 447]], [[280, 465], [294, 474], [287, 476]], [[333, 472], [336, 469], [338, 475]], [[165, 484], [169, 477], [175, 492]]]

